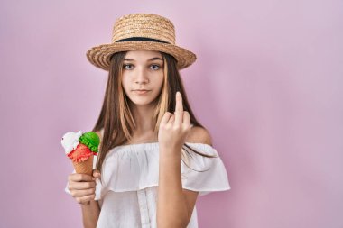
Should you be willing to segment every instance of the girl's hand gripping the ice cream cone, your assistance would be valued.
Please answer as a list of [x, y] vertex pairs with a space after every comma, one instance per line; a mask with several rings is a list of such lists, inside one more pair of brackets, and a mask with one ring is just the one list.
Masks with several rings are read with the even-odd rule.
[[70, 194], [81, 205], [88, 205], [94, 200], [96, 192], [96, 178], [100, 178], [100, 172], [93, 170], [93, 177], [87, 174], [72, 173], [68, 176]]

